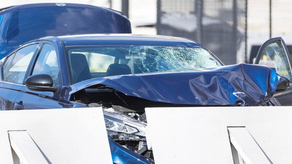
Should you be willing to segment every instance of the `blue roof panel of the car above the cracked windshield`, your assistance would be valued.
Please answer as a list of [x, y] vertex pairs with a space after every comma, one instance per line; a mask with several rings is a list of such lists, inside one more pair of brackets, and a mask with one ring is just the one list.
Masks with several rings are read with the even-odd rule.
[[[199, 43], [189, 39], [138, 34], [80, 34], [58, 36], [65, 46], [87, 45], [160, 45], [180, 47], [202, 47]], [[42, 39], [42, 38], [41, 38]]]

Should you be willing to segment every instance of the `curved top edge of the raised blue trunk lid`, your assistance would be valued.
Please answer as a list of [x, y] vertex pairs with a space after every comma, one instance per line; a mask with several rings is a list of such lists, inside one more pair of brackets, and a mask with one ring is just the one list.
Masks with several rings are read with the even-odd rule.
[[11, 11], [16, 11], [16, 10], [22, 10], [22, 9], [28, 9], [28, 8], [34, 8], [34, 7], [55, 7], [55, 6], [62, 6], [65, 5], [66, 7], [87, 7], [87, 8], [93, 8], [93, 9], [97, 9], [97, 10], [103, 10], [103, 11], [107, 11], [107, 12], [111, 12], [111, 13], [115, 13], [118, 15], [121, 15], [125, 18], [127, 18], [126, 16], [123, 15], [123, 13], [116, 11], [116, 10], [112, 10], [106, 7], [98, 7], [98, 6], [93, 6], [93, 5], [89, 5], [89, 4], [74, 4], [74, 3], [35, 3], [35, 4], [20, 4], [20, 5], [15, 5], [15, 6], [9, 6], [9, 7], [2, 7], [0, 8], [0, 15], [4, 14], [4, 13], [8, 13]]

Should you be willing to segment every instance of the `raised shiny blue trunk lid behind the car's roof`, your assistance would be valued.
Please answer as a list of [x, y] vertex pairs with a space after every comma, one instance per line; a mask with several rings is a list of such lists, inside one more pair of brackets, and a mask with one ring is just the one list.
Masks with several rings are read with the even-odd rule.
[[131, 33], [130, 21], [111, 9], [85, 4], [24, 4], [0, 9], [0, 59], [30, 40], [78, 33]]

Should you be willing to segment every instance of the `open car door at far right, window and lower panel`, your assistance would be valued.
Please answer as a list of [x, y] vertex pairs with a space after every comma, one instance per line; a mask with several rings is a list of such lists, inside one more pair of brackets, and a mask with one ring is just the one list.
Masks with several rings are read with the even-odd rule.
[[290, 80], [290, 87], [276, 91], [275, 97], [283, 106], [292, 105], [292, 75], [291, 56], [281, 37], [273, 38], [265, 42], [258, 51], [255, 64], [266, 65], [275, 68], [276, 72]]

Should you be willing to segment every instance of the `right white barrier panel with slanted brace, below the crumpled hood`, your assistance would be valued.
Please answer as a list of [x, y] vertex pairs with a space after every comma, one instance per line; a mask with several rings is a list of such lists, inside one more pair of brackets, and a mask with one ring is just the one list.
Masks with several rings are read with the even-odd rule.
[[157, 164], [292, 163], [291, 107], [146, 108], [146, 116]]

